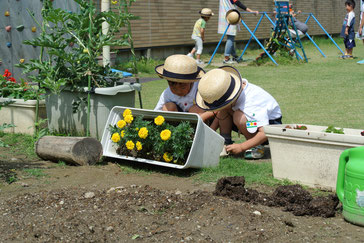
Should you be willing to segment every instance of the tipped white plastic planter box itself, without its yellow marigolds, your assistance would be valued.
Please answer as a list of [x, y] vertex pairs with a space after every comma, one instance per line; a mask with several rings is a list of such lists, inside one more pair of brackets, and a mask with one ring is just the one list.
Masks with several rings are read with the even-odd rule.
[[182, 112], [165, 112], [129, 108], [130, 110], [132, 110], [134, 116], [143, 115], [145, 118], [155, 118], [158, 115], [162, 115], [165, 117], [166, 121], [190, 121], [197, 124], [192, 147], [188, 155], [187, 161], [184, 165], [177, 165], [173, 163], [165, 163], [142, 158], [134, 158], [117, 154], [116, 146], [111, 141], [111, 134], [107, 128], [109, 124], [114, 125], [120, 119], [122, 119], [122, 113], [126, 108], [128, 107], [118, 106], [114, 107], [110, 112], [109, 118], [106, 123], [107, 126], [105, 127], [104, 134], [101, 140], [104, 156], [117, 159], [132, 160], [139, 163], [171, 167], [176, 169], [212, 167], [219, 164], [220, 152], [222, 151], [222, 148], [224, 146], [224, 138], [217, 134], [210, 127], [206, 126], [199, 115]]

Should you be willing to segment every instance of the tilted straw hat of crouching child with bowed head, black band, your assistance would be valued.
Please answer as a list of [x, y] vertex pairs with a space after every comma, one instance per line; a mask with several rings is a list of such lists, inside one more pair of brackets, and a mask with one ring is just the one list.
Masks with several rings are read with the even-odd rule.
[[238, 70], [224, 66], [207, 72], [196, 94], [196, 105], [207, 111], [221, 110], [234, 102], [243, 87]]

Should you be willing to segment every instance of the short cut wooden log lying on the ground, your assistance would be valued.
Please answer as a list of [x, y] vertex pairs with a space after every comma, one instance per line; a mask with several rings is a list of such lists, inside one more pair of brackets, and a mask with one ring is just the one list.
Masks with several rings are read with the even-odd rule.
[[44, 136], [35, 144], [37, 155], [54, 162], [94, 165], [102, 156], [102, 145], [94, 138]]

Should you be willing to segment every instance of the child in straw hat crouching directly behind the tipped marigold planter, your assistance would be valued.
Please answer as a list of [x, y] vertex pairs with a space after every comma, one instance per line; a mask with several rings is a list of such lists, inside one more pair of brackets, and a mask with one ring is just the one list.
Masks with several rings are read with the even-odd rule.
[[198, 81], [205, 71], [197, 66], [193, 58], [186, 55], [169, 56], [164, 64], [155, 67], [155, 71], [160, 78], [168, 81], [168, 88], [161, 94], [154, 110], [193, 112], [204, 121], [213, 118], [212, 112], [205, 112], [194, 104]]

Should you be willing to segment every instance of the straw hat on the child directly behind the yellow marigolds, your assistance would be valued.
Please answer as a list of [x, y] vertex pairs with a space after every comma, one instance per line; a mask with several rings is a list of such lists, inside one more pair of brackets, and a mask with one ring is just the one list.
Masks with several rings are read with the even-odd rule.
[[164, 64], [155, 67], [160, 78], [178, 83], [192, 83], [201, 79], [205, 71], [197, 66], [195, 59], [186, 55], [167, 57]]

